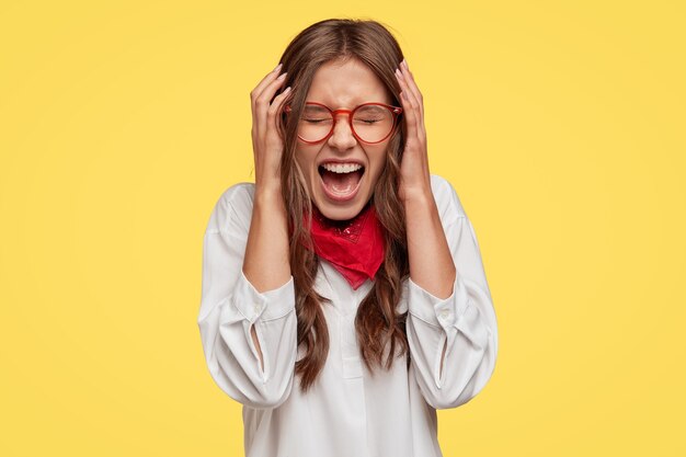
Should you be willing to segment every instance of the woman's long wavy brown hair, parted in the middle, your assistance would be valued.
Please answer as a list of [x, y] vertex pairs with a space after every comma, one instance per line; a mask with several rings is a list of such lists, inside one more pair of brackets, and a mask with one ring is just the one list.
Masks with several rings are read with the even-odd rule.
[[[290, 113], [279, 118], [284, 138], [281, 180], [284, 203], [288, 208], [290, 233], [290, 270], [296, 289], [298, 319], [298, 349], [302, 358], [296, 362], [300, 388], [307, 391], [321, 372], [329, 353], [329, 332], [322, 306], [331, 301], [313, 287], [319, 259], [304, 243], [311, 243], [309, 226], [304, 215], [312, 214], [312, 203], [302, 171], [295, 160], [297, 128], [305, 99], [317, 69], [331, 60], [357, 58], [366, 64], [384, 82], [392, 103], [400, 106], [400, 85], [395, 70], [403, 59], [396, 38], [376, 21], [330, 19], [317, 22], [300, 32], [287, 46], [281, 62], [288, 72], [282, 85], [293, 88], [284, 102]], [[398, 313], [402, 282], [409, 275], [404, 208], [398, 197], [400, 160], [405, 127], [399, 128], [389, 140], [386, 165], [374, 190], [374, 205], [386, 237], [384, 263], [376, 274], [373, 288], [361, 302], [355, 317], [355, 332], [361, 356], [374, 373], [375, 367], [390, 369], [396, 357], [410, 351], [405, 333], [407, 311]], [[311, 245], [311, 244], [310, 244]], [[386, 362], [384, 356], [386, 355]]]

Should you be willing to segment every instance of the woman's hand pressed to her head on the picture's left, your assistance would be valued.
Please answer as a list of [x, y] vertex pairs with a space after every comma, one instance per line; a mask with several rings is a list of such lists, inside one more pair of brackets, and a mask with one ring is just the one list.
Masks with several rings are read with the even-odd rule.
[[[277, 127], [282, 104], [290, 92], [286, 88], [276, 98], [274, 94], [284, 84], [287, 73], [281, 73], [279, 64], [250, 92], [252, 104], [252, 150], [255, 162], [256, 190], [281, 192], [281, 158], [284, 138]], [[274, 99], [272, 101], [272, 99]], [[270, 103], [271, 102], [271, 103]]]

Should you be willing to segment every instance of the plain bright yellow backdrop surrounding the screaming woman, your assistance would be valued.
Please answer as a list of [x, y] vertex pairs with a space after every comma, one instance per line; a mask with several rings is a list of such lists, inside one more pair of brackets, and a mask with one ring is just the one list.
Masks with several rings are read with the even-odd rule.
[[500, 353], [444, 454], [686, 455], [682, 4], [2, 1], [0, 455], [242, 455], [203, 232], [250, 91], [333, 16], [393, 27], [481, 244]]

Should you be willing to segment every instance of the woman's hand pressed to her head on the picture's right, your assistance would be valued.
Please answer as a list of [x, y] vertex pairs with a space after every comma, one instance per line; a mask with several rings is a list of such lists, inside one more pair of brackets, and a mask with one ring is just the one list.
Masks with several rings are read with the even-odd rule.
[[396, 78], [400, 83], [400, 101], [407, 124], [407, 138], [400, 163], [399, 197], [407, 202], [408, 198], [426, 197], [432, 194], [424, 127], [424, 100], [404, 59], [396, 70]]

